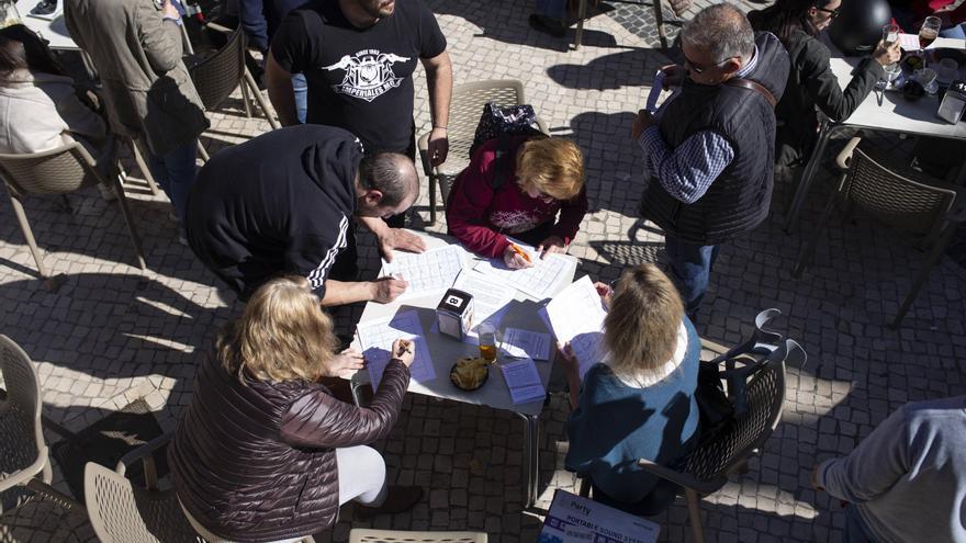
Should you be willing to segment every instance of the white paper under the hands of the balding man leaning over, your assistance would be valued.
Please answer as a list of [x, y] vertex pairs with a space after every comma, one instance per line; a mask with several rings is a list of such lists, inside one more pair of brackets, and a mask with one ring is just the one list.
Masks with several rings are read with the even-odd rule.
[[465, 253], [458, 245], [419, 253], [394, 251], [392, 262], [382, 261], [382, 275], [398, 275], [409, 283], [401, 298], [445, 291], [463, 269]]

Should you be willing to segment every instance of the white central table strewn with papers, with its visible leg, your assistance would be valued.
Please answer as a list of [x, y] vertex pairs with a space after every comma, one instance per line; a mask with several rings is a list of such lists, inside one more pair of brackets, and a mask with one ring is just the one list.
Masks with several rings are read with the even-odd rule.
[[[416, 233], [420, 234], [422, 233]], [[454, 242], [451, 238], [440, 239], [437, 237], [423, 236], [428, 248], [442, 247], [448, 242]], [[472, 263], [468, 264], [469, 269]], [[557, 285], [555, 292], [560, 292], [566, 285], [573, 282], [574, 273], [576, 273], [577, 260], [572, 259], [572, 265], [564, 273], [563, 278]], [[474, 272], [475, 273], [475, 272]], [[479, 357], [479, 349], [474, 344], [463, 343], [448, 336], [431, 333], [433, 324], [436, 321], [436, 306], [439, 304], [442, 293], [440, 291], [434, 294], [427, 294], [419, 297], [398, 301], [391, 304], [379, 304], [370, 302], [362, 312], [360, 323], [373, 320], [378, 318], [391, 317], [397, 312], [416, 310], [419, 315], [419, 321], [423, 325], [423, 332], [426, 335], [426, 343], [433, 358], [436, 378], [430, 382], [417, 383], [409, 381], [408, 391], [425, 396], [436, 398], [446, 398], [464, 404], [485, 405], [496, 409], [505, 409], [524, 419], [524, 506], [530, 507], [537, 499], [537, 484], [539, 476], [539, 450], [538, 433], [540, 411], [543, 410], [543, 399], [531, 401], [528, 404], [514, 405], [509, 397], [509, 391], [503, 374], [497, 367], [490, 369], [490, 378], [482, 388], [473, 392], [464, 392], [457, 388], [449, 380], [449, 372], [457, 359], [462, 357]], [[526, 294], [517, 292], [516, 298], [510, 303], [509, 308], [499, 324], [499, 329], [506, 327], [521, 328], [538, 332], [550, 333], [547, 326], [537, 315], [537, 309], [542, 304], [538, 301], [529, 298]], [[361, 350], [358, 337], [352, 342], [352, 347]], [[550, 380], [550, 370], [552, 361], [537, 361], [537, 371], [540, 373], [540, 380], [543, 387], [547, 388]], [[369, 373], [364, 370], [356, 373], [352, 377], [353, 394], [359, 386], [369, 384]]]

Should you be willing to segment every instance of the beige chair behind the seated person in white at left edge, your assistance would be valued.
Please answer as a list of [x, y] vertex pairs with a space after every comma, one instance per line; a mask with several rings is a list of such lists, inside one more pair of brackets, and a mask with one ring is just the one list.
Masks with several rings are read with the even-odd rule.
[[[29, 155], [0, 155], [0, 178], [4, 181], [16, 220], [20, 223], [20, 228], [23, 230], [23, 236], [26, 238], [27, 246], [37, 264], [37, 271], [44, 279], [49, 279], [49, 273], [44, 265], [43, 257], [23, 210], [21, 197], [24, 194], [67, 194], [102, 183], [103, 178], [94, 168], [93, 158], [77, 142], [56, 149]], [[131, 216], [131, 210], [127, 206], [121, 174], [111, 176], [110, 182], [117, 195], [121, 215], [124, 217], [127, 234], [134, 245], [137, 264], [144, 271], [147, 269], [144, 250]]]

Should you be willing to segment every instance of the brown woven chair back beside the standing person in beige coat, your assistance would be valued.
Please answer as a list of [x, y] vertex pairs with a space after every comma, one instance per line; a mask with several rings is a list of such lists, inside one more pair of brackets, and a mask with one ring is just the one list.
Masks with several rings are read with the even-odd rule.
[[245, 33], [239, 25], [224, 47], [188, 68], [204, 109], [212, 111], [228, 98], [245, 75]]

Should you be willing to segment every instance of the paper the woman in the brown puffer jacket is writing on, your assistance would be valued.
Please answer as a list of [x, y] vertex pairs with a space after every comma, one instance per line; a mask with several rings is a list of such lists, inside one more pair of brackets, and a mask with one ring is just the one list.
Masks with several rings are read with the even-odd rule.
[[382, 372], [392, 358], [390, 352], [392, 343], [398, 338], [412, 339], [416, 343], [416, 357], [413, 365], [409, 366], [413, 381], [426, 382], [436, 378], [433, 359], [429, 358], [429, 349], [426, 348], [423, 325], [416, 312], [403, 312], [392, 317], [359, 323], [357, 333], [373, 391], [379, 388]]

